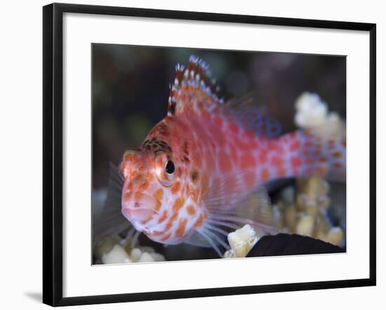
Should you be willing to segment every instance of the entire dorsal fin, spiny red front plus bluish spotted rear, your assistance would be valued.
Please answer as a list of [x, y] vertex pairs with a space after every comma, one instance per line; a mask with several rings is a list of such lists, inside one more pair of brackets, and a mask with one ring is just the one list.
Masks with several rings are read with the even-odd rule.
[[239, 128], [256, 135], [278, 136], [280, 124], [269, 116], [266, 106], [256, 105], [256, 102], [258, 100], [253, 94], [224, 102], [206, 62], [192, 55], [187, 67], [180, 64], [175, 66], [168, 115], [206, 111], [213, 116], [230, 119]]

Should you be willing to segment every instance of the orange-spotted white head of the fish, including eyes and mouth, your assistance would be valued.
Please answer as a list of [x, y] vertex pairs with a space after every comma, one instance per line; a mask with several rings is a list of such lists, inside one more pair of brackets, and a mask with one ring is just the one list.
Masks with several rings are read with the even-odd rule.
[[200, 213], [189, 163], [180, 161], [168, 145], [161, 149], [142, 146], [125, 152], [120, 170], [124, 217], [153, 241], [182, 242]]

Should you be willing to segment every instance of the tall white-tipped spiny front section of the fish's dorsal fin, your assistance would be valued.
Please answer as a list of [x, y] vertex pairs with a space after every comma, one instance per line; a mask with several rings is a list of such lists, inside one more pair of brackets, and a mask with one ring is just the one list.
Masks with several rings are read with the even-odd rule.
[[185, 111], [199, 112], [201, 109], [211, 112], [224, 103], [219, 92], [206, 62], [191, 55], [187, 67], [175, 66], [175, 80], [169, 90], [168, 115], [178, 116]]

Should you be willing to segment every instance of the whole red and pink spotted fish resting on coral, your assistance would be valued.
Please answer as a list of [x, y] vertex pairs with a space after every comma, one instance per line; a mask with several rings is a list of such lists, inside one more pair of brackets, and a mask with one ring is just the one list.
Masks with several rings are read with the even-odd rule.
[[192, 56], [186, 69], [176, 68], [168, 115], [124, 154], [122, 214], [153, 241], [211, 246], [220, 255], [226, 229], [259, 225], [237, 209], [256, 192], [267, 203], [265, 182], [345, 179], [345, 135], [278, 134], [265, 112], [222, 102], [206, 64]]

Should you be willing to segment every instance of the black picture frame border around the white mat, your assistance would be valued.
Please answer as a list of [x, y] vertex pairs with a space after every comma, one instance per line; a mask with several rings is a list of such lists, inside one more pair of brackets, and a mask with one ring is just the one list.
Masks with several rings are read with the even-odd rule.
[[[142, 18], [167, 18], [242, 24], [277, 25], [288, 27], [315, 27], [324, 29], [347, 29], [369, 32], [370, 35], [370, 275], [343, 281], [321, 281], [309, 283], [284, 283], [230, 288], [208, 288], [195, 290], [173, 290], [162, 292], [140, 292], [117, 295], [93, 295], [63, 297], [62, 253], [63, 253], [63, 13], [99, 15], [121, 15]], [[87, 6], [75, 4], [50, 4], [43, 8], [43, 302], [51, 306], [79, 304], [102, 304], [112, 302], [134, 302], [155, 299], [177, 299], [209, 297], [219, 295], [241, 295], [262, 292], [284, 292], [296, 290], [318, 290], [327, 288], [349, 288], [375, 285], [376, 281], [376, 236], [375, 236], [375, 84], [376, 84], [376, 25], [361, 22], [339, 22], [329, 20], [305, 20], [296, 18], [273, 18], [251, 15], [166, 11], [148, 8], [123, 8], [112, 6]]]

